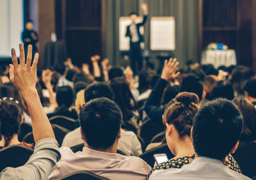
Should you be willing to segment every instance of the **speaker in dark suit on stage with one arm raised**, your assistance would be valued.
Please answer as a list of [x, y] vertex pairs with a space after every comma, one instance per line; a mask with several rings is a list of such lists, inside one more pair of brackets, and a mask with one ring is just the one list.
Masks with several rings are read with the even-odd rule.
[[143, 66], [143, 60], [141, 57], [141, 42], [144, 42], [143, 36], [140, 33], [141, 25], [147, 22], [147, 4], [141, 4], [141, 10], [143, 11], [143, 22], [136, 24], [136, 19], [138, 18], [137, 13], [129, 13], [132, 24], [127, 26], [127, 33], [125, 36], [129, 36], [129, 54], [131, 59], [131, 68], [134, 74], [141, 71]]

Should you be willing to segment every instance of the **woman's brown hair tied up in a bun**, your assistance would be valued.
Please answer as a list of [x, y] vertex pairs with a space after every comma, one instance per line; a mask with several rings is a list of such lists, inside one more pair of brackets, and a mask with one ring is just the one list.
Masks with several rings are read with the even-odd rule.
[[173, 124], [179, 132], [179, 138], [191, 136], [193, 117], [198, 110], [199, 97], [192, 92], [180, 92], [176, 95], [175, 103], [164, 111], [166, 123]]

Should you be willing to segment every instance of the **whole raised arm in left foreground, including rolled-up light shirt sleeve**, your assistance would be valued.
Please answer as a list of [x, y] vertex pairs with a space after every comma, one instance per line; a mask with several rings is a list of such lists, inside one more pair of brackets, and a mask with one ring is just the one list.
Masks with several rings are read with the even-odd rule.
[[0, 179], [47, 179], [48, 174], [60, 158], [59, 144], [36, 91], [36, 66], [39, 54], [35, 54], [33, 65], [32, 46], [28, 45], [27, 62], [22, 44], [19, 45], [19, 61], [12, 49], [13, 65], [10, 65], [10, 80], [19, 89], [31, 115], [33, 138], [36, 142], [33, 155], [28, 162], [17, 168], [7, 167], [0, 173]]

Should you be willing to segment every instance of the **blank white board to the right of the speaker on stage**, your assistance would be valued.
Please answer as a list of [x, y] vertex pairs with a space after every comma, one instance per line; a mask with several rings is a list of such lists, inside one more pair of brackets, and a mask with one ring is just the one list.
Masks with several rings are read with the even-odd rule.
[[174, 17], [150, 18], [150, 49], [153, 51], [173, 51], [175, 49]]

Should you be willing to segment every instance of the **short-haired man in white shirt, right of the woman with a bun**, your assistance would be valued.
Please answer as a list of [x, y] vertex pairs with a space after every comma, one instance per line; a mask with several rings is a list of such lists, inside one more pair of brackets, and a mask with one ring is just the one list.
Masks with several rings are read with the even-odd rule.
[[194, 160], [179, 169], [156, 170], [150, 179], [249, 179], [223, 164], [237, 150], [242, 126], [243, 115], [234, 103], [225, 99], [206, 103], [193, 118]]

